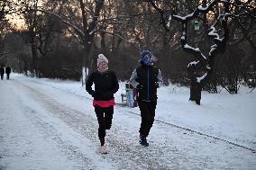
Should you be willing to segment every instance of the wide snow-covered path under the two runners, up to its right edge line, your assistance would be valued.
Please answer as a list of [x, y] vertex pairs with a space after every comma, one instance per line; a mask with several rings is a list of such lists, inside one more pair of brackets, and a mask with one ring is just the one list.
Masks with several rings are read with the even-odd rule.
[[0, 169], [256, 168], [249, 150], [160, 122], [142, 148], [140, 118], [118, 106], [101, 155], [90, 99], [23, 76], [1, 81], [0, 94]]

